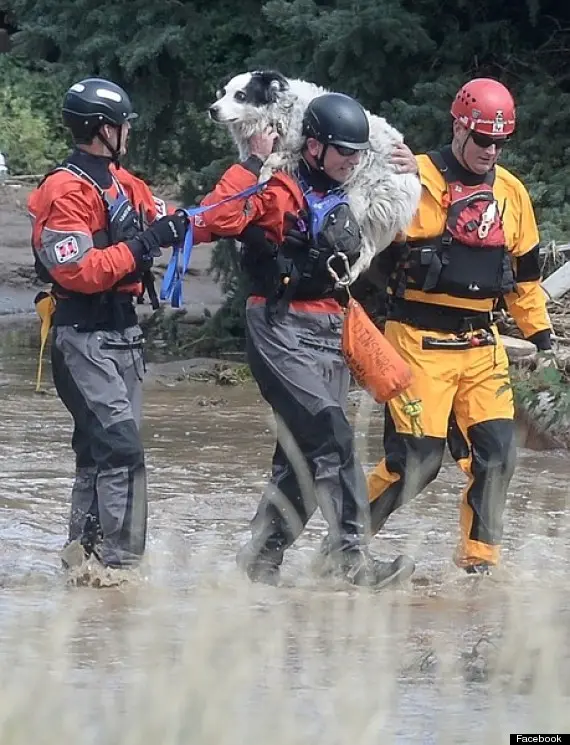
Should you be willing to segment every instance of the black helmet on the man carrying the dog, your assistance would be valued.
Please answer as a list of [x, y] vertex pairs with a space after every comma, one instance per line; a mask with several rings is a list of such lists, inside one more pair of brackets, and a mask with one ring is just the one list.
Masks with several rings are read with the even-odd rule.
[[303, 135], [324, 145], [354, 150], [370, 147], [370, 125], [362, 106], [343, 93], [325, 93], [313, 98], [303, 117]]

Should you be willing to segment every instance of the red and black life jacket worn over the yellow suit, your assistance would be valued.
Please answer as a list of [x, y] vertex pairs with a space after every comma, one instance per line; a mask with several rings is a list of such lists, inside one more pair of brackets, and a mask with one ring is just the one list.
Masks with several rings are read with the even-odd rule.
[[397, 271], [396, 297], [406, 289], [460, 298], [499, 298], [515, 289], [503, 219], [493, 194], [494, 170], [481, 184], [467, 186], [441, 153], [429, 158], [447, 184], [442, 235], [408, 241]]

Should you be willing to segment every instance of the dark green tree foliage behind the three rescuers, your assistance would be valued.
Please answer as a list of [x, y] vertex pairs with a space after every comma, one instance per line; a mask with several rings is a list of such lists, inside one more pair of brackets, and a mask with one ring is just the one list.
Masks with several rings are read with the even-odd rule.
[[[0, 114], [8, 106], [12, 122], [16, 111], [38, 119], [34, 126], [26, 120], [6, 127], [21, 128], [31, 140], [18, 150], [22, 157], [40, 152], [49, 160], [42, 143], [51, 133], [60, 147], [56, 119], [65, 86], [85, 75], [109, 76], [127, 88], [140, 113], [127, 165], [151, 180], [178, 184], [192, 204], [235, 157], [223, 128], [206, 116], [224, 77], [273, 67], [354, 94], [422, 151], [449, 140], [449, 107], [461, 83], [490, 75], [506, 83], [518, 103], [517, 133], [503, 162], [529, 187], [543, 241], [568, 240], [570, 31], [567, 11], [554, 0], [0, 4], [19, 28], [13, 55], [22, 71], [17, 88], [2, 78], [0, 90], [9, 88], [16, 105], [3, 96]], [[21, 99], [33, 99], [30, 109]], [[223, 339], [235, 331], [240, 341], [243, 285], [232, 256], [227, 244], [214, 256], [228, 301], [210, 331]]]

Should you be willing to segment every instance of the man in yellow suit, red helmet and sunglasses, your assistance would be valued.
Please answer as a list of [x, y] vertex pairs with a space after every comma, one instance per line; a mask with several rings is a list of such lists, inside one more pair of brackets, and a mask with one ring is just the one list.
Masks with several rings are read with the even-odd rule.
[[377, 532], [436, 477], [447, 438], [469, 478], [455, 562], [488, 574], [499, 561], [516, 454], [508, 360], [492, 312], [504, 301], [538, 350], [550, 349], [550, 321], [529, 194], [497, 165], [515, 131], [513, 97], [477, 78], [458, 91], [451, 115], [451, 144], [417, 156], [423, 193], [405, 241], [379, 259], [390, 273], [386, 336], [412, 367], [408, 394], [422, 413], [418, 432], [399, 399], [387, 405], [385, 458], [368, 490]]

